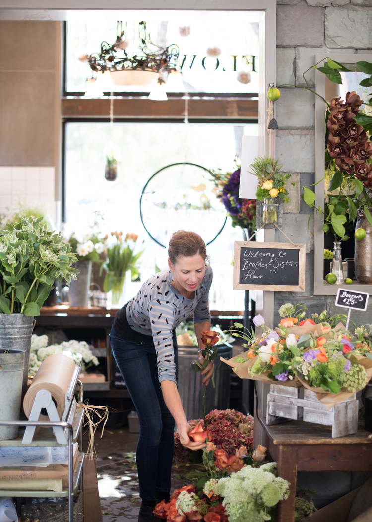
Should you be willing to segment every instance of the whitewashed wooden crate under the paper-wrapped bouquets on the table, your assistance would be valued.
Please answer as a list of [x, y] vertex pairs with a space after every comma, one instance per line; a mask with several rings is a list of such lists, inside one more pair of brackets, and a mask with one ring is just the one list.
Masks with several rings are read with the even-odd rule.
[[306, 388], [271, 384], [266, 423], [280, 424], [299, 419], [332, 426], [332, 438], [351, 435], [358, 429], [358, 400], [353, 394], [328, 410], [317, 399], [316, 394]]

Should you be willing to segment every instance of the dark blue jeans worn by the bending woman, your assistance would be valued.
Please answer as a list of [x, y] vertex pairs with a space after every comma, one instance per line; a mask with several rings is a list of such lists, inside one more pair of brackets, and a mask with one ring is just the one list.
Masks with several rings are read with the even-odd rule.
[[[161, 492], [170, 491], [175, 421], [162, 396], [158, 381], [153, 341], [134, 341], [110, 333], [111, 350], [131, 394], [140, 421], [140, 438], [136, 450], [140, 496], [153, 501]], [[177, 364], [177, 341], [173, 331]]]

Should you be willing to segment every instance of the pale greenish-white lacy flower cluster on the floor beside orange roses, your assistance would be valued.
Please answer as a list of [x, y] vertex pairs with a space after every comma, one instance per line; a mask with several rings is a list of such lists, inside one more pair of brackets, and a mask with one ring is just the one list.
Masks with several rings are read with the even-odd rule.
[[276, 462], [269, 462], [260, 468], [246, 466], [213, 484], [215, 493], [224, 497], [223, 505], [230, 522], [270, 520], [266, 507], [275, 506], [289, 494], [288, 482], [275, 477], [275, 468]]

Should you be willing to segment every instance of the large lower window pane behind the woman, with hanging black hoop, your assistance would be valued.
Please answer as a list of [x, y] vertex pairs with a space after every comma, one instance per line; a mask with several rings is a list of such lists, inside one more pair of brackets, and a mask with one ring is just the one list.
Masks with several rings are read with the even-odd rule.
[[[141, 222], [139, 201], [147, 181], [171, 163], [234, 169], [242, 134], [257, 133], [258, 125], [253, 124], [68, 123], [65, 234], [84, 235], [97, 222], [104, 234], [115, 230], [123, 231], [124, 236], [138, 234], [138, 250], [145, 248], [142, 279], [154, 274], [156, 267], [166, 268], [166, 249], [149, 238]], [[118, 162], [115, 181], [105, 179], [107, 155]], [[204, 169], [180, 165], [162, 170], [146, 189], [146, 226], [164, 244], [180, 228], [194, 230], [210, 241], [225, 219], [212, 190]], [[186, 205], [179, 208], [182, 202]], [[232, 228], [228, 218], [223, 232], [207, 248], [215, 273], [212, 309], [243, 310], [244, 292], [232, 290], [231, 266], [234, 241], [242, 239], [241, 229]], [[144, 245], [139, 244], [141, 241]], [[127, 285], [128, 293], [133, 291], [132, 284]]]

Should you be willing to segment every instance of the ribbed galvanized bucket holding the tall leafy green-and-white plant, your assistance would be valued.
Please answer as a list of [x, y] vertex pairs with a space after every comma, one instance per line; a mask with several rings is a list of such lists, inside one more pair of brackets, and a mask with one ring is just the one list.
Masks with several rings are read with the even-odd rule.
[[[25, 314], [0, 314], [0, 350], [22, 350], [25, 352], [22, 401], [27, 392], [33, 325], [33, 317]], [[0, 397], [0, 400], [2, 400], [2, 397]]]

